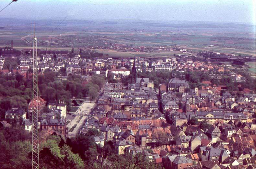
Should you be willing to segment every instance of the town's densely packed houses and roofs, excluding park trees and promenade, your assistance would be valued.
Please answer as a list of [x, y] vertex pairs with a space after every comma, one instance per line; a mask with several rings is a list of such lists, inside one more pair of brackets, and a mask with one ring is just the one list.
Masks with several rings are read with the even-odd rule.
[[[117, 44], [109, 48], [136, 52], [174, 50], [128, 48]], [[38, 72], [56, 72], [61, 82], [76, 75], [81, 78], [81, 85], [90, 83], [93, 75], [105, 78], [95, 106], [77, 134], [98, 130], [101, 134], [93, 137], [94, 142], [102, 147], [107, 141], [113, 142], [118, 155], [145, 152], [154, 163], [173, 169], [255, 168], [255, 90], [253, 86], [246, 86], [247, 76], [234, 71], [229, 64], [220, 63], [230, 61], [243, 67], [245, 61], [254, 58], [175, 50], [180, 54], [161, 59], [86, 58], [82, 52], [39, 51]], [[32, 78], [31, 51], [6, 47], [1, 49], [0, 55], [1, 75], [20, 74], [24, 79]], [[6, 64], [9, 61], [17, 65]], [[159, 81], [159, 77], [151, 76], [154, 73], [167, 73], [169, 77]], [[192, 77], [193, 73], [207, 77], [197, 80]], [[227, 85], [220, 84], [225, 80]], [[10, 127], [8, 119], [16, 119], [21, 121], [22, 128], [31, 132], [32, 104], [38, 105], [40, 110], [41, 135], [54, 133], [63, 138], [72, 137], [69, 133], [73, 130], [67, 127], [71, 121], [67, 117], [72, 114], [67, 111], [67, 105], [63, 102], [46, 104], [41, 97], [31, 100], [27, 110], [8, 109], [0, 127]]]

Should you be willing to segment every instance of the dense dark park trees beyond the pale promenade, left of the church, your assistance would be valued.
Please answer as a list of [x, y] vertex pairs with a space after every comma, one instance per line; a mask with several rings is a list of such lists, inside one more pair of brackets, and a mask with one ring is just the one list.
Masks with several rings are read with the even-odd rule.
[[[81, 76], [69, 76], [67, 80], [57, 79], [58, 73], [45, 71], [38, 75], [38, 93], [45, 101], [63, 102], [67, 105], [67, 111], [71, 107], [71, 99], [89, 97], [95, 100], [98, 97], [100, 88], [104, 85], [105, 79], [102, 76], [94, 75], [92, 80], [82, 85]], [[0, 117], [4, 118], [5, 111], [10, 108], [28, 109], [32, 99], [32, 79], [30, 75], [24, 77], [21, 74], [0, 75]]]

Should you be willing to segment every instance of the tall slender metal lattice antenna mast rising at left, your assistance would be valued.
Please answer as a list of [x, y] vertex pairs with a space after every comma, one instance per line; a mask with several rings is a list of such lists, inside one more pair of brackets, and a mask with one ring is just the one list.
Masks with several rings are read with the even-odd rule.
[[38, 139], [38, 84], [37, 84], [37, 38], [36, 38], [36, 0], [35, 23], [33, 38], [33, 96], [32, 96], [32, 168], [39, 169], [39, 139]]

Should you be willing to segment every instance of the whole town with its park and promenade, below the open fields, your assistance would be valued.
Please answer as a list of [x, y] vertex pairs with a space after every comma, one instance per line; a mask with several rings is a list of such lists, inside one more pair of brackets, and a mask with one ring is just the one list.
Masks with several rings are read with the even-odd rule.
[[179, 52], [121, 59], [91, 49], [39, 50], [40, 95], [32, 100], [31, 51], [2, 48], [1, 130], [28, 140], [34, 104], [39, 141], [57, 149], [65, 142], [79, 157], [76, 168], [115, 168], [125, 158], [142, 158], [145, 168], [254, 167], [256, 80], [245, 64], [254, 57]]

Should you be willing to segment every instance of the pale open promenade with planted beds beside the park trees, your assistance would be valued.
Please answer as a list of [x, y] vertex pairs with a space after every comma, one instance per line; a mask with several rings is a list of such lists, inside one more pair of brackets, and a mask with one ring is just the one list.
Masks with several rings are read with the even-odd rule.
[[[76, 134], [78, 134], [79, 129], [82, 127], [84, 120], [90, 114], [90, 111], [94, 107], [94, 105], [95, 105], [95, 102], [84, 101], [74, 114], [67, 116], [67, 120], [70, 121], [67, 124], [68, 130], [70, 130], [76, 124], [76, 127], [74, 128], [74, 130], [68, 133], [69, 138], [75, 137]], [[79, 119], [80, 117], [82, 118]]]

